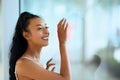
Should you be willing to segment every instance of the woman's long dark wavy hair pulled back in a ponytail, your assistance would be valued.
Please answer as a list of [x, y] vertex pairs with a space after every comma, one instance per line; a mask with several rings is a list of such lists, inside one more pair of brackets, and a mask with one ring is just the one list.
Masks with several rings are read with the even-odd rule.
[[16, 61], [25, 53], [28, 43], [23, 37], [23, 32], [28, 31], [29, 20], [33, 18], [40, 18], [37, 15], [29, 12], [23, 12], [20, 14], [13, 35], [12, 43], [10, 46], [9, 54], [9, 80], [16, 80], [15, 78], [15, 65]]

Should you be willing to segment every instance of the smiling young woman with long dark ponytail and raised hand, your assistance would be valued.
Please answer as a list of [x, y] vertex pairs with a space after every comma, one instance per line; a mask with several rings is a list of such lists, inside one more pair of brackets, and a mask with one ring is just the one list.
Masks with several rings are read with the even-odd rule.
[[60, 20], [57, 25], [59, 49], [61, 56], [60, 73], [49, 71], [50, 59], [47, 68], [40, 60], [42, 47], [48, 45], [49, 31], [43, 19], [29, 12], [23, 12], [16, 24], [10, 48], [10, 80], [70, 80], [70, 71], [66, 53], [66, 35], [68, 23]]

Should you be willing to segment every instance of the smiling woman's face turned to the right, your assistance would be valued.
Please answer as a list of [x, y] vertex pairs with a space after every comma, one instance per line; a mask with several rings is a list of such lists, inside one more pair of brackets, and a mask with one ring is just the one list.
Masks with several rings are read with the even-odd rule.
[[47, 46], [49, 31], [44, 21], [40, 18], [33, 18], [29, 21], [28, 41], [36, 46]]

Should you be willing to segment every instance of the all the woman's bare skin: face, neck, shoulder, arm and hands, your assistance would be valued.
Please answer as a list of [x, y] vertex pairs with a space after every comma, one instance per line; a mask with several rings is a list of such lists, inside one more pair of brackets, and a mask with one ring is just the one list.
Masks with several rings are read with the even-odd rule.
[[[49, 31], [46, 24], [40, 18], [30, 20], [28, 32], [23, 32], [23, 36], [27, 39], [28, 48], [24, 55], [16, 63], [16, 71], [19, 80], [70, 80], [69, 64], [66, 53], [66, 35], [68, 23], [66, 19], [60, 20], [57, 25], [59, 49], [61, 55], [60, 73], [54, 72], [55, 67], [49, 70], [55, 64], [51, 63], [52, 58], [46, 63], [46, 68], [43, 68], [40, 63], [40, 52], [42, 47], [48, 45]], [[46, 38], [44, 40], [43, 38]], [[25, 59], [29, 57], [33, 61]]]

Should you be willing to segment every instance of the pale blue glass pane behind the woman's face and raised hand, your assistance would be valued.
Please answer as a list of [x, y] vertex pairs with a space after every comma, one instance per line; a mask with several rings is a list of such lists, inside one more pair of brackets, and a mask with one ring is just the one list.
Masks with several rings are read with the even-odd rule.
[[[82, 14], [80, 1], [70, 0], [21, 0], [21, 12], [28, 11], [42, 16], [49, 26], [50, 41], [41, 54], [41, 61], [45, 66], [46, 61], [53, 57], [56, 66], [59, 65], [59, 49], [57, 39], [57, 24], [63, 17], [69, 22], [67, 51], [71, 60], [72, 72], [80, 66], [82, 52]], [[56, 67], [59, 72], [59, 66]], [[73, 74], [77, 80], [79, 73]], [[78, 78], [79, 79], [79, 78]]]

